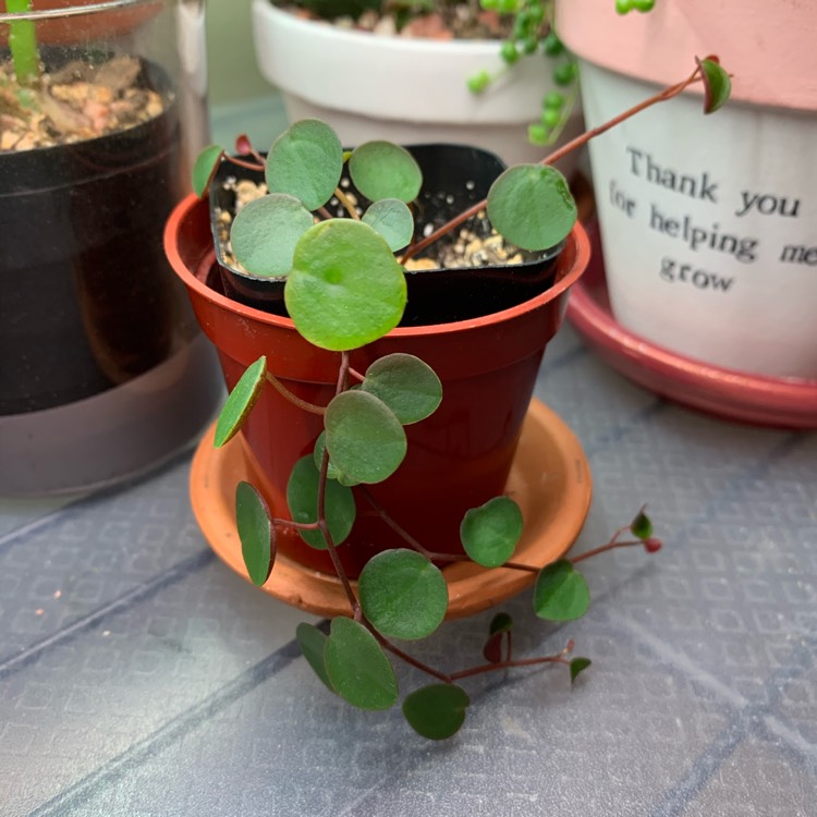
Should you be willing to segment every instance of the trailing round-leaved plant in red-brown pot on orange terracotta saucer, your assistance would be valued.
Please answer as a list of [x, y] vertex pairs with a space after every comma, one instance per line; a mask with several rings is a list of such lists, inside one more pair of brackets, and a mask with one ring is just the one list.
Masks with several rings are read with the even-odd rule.
[[[710, 107], [724, 100], [727, 75], [704, 60], [646, 105], [699, 81]], [[418, 236], [406, 203], [420, 180], [408, 151], [380, 141], [344, 151], [318, 120], [293, 124], [266, 159], [245, 139], [240, 146], [229, 161], [264, 161], [271, 192], [235, 217], [233, 249], [245, 268], [273, 283], [284, 278], [288, 317], [218, 291], [206, 202], [185, 199], [166, 231], [231, 391], [191, 475], [214, 548], [256, 585], [334, 617], [328, 634], [305, 624], [297, 637], [319, 678], [349, 703], [385, 709], [397, 702], [387, 654], [428, 673], [435, 683], [403, 704], [427, 737], [451, 736], [462, 724], [461, 679], [537, 663], [566, 664], [575, 679], [589, 660], [573, 657], [572, 644], [554, 656], [513, 658], [503, 614], [491, 624], [485, 663], [463, 671], [420, 664], [397, 643], [531, 584], [540, 617], [577, 618], [589, 603], [577, 562], [618, 547], [660, 547], [642, 511], [606, 545], [564, 558], [587, 511], [589, 474], [570, 430], [544, 406], [528, 412], [544, 346], [587, 263], [564, 178], [547, 162], [509, 168], [486, 200]], [[198, 191], [223, 159], [218, 146], [199, 157]], [[424, 200], [413, 206], [426, 215]], [[566, 241], [552, 285], [499, 313], [401, 327], [403, 264], [483, 210], [519, 247]], [[529, 471], [507, 481], [520, 456]], [[542, 464], [551, 468], [547, 496], [531, 488], [540, 485]], [[215, 509], [229, 519], [214, 520]]]

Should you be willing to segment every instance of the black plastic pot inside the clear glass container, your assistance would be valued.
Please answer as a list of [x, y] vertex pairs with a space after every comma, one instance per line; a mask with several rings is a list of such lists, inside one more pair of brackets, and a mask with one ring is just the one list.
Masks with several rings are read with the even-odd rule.
[[[167, 87], [158, 70], [144, 81]], [[92, 397], [179, 346], [186, 304], [161, 234], [180, 161], [173, 102], [121, 133], [0, 155], [0, 415]]]

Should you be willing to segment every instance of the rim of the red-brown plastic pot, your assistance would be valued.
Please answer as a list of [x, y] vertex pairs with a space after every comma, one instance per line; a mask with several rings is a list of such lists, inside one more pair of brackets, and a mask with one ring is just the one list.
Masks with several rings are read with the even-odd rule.
[[[279, 329], [288, 329], [295, 331], [295, 325], [291, 318], [284, 318], [278, 315], [270, 315], [269, 313], [261, 312], [252, 306], [245, 306], [236, 301], [216, 292], [214, 289], [208, 286], [204, 281], [200, 281], [194, 276], [187, 264], [183, 260], [179, 253], [176, 236], [179, 235], [180, 224], [185, 218], [190, 216], [192, 210], [197, 206], [202, 205], [205, 199], [198, 198], [195, 194], [191, 193], [188, 196], [183, 198], [171, 212], [166, 228], [164, 228], [164, 249], [170, 260], [171, 266], [175, 273], [182, 279], [185, 286], [197, 292], [202, 297], [210, 301], [214, 305], [235, 313], [248, 321], [256, 321], [266, 324], [271, 327]], [[456, 332], [473, 331], [481, 327], [493, 326], [497, 324], [504, 324], [507, 321], [514, 320], [520, 315], [532, 312], [545, 304], [559, 297], [562, 293], [569, 290], [584, 273], [587, 268], [590, 258], [590, 243], [587, 234], [582, 227], [580, 221], [573, 225], [570, 235], [565, 240], [565, 246], [562, 251], [562, 255], [565, 253], [572, 254], [568, 256], [570, 264], [568, 270], [553, 282], [547, 291], [540, 295], [525, 301], [522, 304], [511, 307], [510, 309], [503, 309], [502, 312], [491, 313], [479, 318], [471, 318], [468, 320], [458, 320], [449, 324], [431, 324], [428, 326], [420, 327], [398, 327], [392, 329], [386, 337], [388, 338], [418, 338], [424, 336], [435, 334], [450, 334]], [[214, 249], [215, 252], [215, 249]], [[557, 275], [559, 275], [557, 272]]]

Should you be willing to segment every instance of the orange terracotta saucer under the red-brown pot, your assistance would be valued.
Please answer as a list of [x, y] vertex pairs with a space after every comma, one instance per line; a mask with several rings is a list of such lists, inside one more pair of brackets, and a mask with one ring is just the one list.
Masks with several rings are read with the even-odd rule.
[[[215, 424], [193, 458], [193, 511], [210, 547], [247, 578], [233, 519], [235, 484], [248, 478], [244, 451], [240, 439], [215, 449], [214, 431]], [[520, 503], [525, 517], [525, 532], [514, 561], [544, 566], [563, 556], [578, 536], [589, 510], [590, 472], [573, 432], [537, 400], [531, 403], [507, 491]], [[486, 610], [532, 585], [536, 576], [465, 562], [448, 565], [442, 572], [449, 586], [449, 619]], [[317, 615], [349, 613], [336, 576], [308, 570], [282, 556], [276, 560], [263, 589]]]

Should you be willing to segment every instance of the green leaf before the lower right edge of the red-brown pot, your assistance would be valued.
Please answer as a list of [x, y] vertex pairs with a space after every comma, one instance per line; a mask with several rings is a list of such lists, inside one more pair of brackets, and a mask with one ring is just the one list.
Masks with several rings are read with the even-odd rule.
[[460, 539], [477, 564], [499, 568], [513, 556], [523, 526], [520, 507], [510, 497], [495, 497], [465, 513]]

